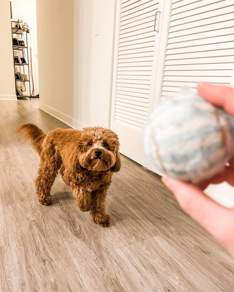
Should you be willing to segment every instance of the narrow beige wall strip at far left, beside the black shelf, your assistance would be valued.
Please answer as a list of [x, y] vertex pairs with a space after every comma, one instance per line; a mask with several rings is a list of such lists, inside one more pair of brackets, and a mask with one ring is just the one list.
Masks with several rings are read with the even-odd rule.
[[9, 0], [0, 1], [0, 13], [0, 99], [16, 99]]

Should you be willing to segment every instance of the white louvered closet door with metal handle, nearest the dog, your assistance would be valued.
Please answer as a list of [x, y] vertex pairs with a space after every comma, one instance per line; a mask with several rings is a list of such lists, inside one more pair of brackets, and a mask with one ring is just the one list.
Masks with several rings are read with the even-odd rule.
[[[143, 130], [153, 107], [166, 2], [170, 4], [170, 0], [117, 0], [110, 128], [119, 135], [120, 152], [142, 165]], [[156, 11], [161, 12], [158, 32]]]

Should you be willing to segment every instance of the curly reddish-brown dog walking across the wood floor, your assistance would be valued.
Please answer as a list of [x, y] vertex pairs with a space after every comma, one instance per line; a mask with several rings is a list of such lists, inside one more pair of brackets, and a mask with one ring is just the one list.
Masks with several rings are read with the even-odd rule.
[[59, 172], [71, 186], [80, 210], [90, 211], [96, 224], [107, 226], [110, 216], [105, 212], [104, 201], [111, 177], [121, 167], [118, 136], [101, 127], [83, 131], [58, 128], [46, 135], [32, 123], [20, 125], [17, 131], [24, 132], [41, 157], [35, 180], [39, 202], [52, 203], [50, 190]]

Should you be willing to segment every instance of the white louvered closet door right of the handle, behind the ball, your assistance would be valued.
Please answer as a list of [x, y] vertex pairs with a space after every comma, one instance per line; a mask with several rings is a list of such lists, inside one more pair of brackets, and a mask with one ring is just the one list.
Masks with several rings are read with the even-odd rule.
[[[234, 0], [172, 0], [163, 26], [167, 37], [159, 49], [154, 106], [181, 86], [195, 91], [198, 82], [230, 85], [234, 76]], [[147, 168], [154, 170], [149, 162]]]

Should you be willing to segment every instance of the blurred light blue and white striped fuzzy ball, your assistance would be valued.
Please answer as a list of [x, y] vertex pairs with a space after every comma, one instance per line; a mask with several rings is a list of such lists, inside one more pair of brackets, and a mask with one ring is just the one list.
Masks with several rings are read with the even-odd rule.
[[234, 117], [181, 88], [153, 112], [144, 150], [160, 174], [203, 181], [221, 172], [234, 154]]

